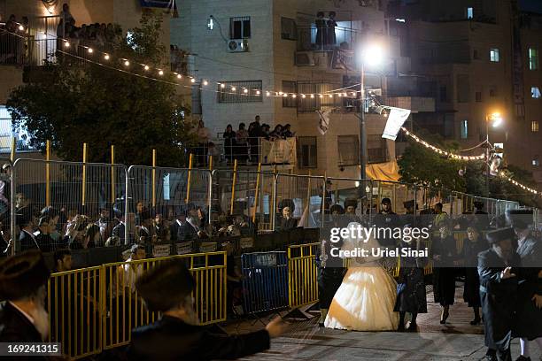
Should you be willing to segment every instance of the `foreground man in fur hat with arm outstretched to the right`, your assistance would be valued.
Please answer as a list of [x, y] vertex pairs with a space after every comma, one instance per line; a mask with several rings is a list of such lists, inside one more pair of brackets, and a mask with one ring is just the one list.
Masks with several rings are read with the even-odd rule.
[[128, 359], [235, 359], [268, 349], [270, 338], [283, 333], [283, 324], [274, 319], [265, 330], [250, 334], [211, 334], [198, 326], [192, 299], [195, 286], [181, 259], [162, 262], [136, 281], [137, 291], [149, 311], [160, 311], [162, 317], [132, 331]]

